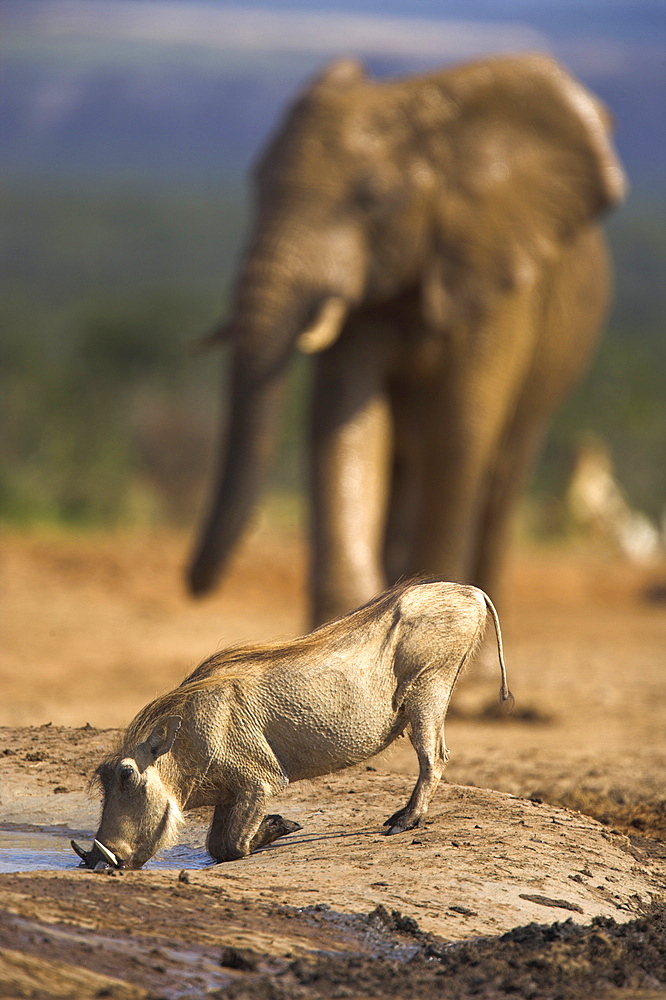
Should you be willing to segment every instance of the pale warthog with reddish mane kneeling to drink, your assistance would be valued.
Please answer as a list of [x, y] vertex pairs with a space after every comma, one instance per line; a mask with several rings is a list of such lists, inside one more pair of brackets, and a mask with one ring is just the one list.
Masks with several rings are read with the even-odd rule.
[[267, 816], [291, 781], [384, 750], [405, 729], [419, 777], [389, 834], [419, 824], [447, 760], [444, 719], [456, 680], [497, 612], [475, 587], [401, 584], [293, 642], [215, 653], [142, 709], [97, 768], [102, 819], [84, 864], [140, 868], [177, 839], [183, 812], [214, 806], [207, 848], [242, 858], [298, 829]]

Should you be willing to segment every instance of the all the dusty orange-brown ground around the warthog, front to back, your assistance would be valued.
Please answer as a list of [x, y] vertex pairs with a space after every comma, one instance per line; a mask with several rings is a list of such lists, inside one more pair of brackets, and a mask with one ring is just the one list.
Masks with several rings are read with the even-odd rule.
[[[8, 534], [0, 562], [0, 851], [90, 838], [88, 778], [151, 697], [214, 649], [304, 629], [304, 551], [249, 540], [225, 587], [182, 591], [184, 536]], [[427, 824], [386, 838], [407, 740], [292, 786], [302, 829], [203, 866], [0, 874], [2, 997], [666, 996], [666, 566], [519, 549], [489, 651], [449, 713]], [[194, 860], [193, 860], [194, 859]]]

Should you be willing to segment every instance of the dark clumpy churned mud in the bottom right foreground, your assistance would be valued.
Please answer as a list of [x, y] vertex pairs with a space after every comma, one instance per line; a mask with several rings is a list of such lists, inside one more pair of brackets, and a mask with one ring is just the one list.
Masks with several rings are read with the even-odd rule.
[[[499, 938], [450, 944], [424, 935], [401, 914], [378, 908], [364, 917], [373, 930], [409, 935], [418, 944], [405, 961], [326, 955], [292, 962], [280, 975], [236, 982], [218, 996], [243, 1000], [299, 997], [589, 998], [663, 997], [666, 908], [618, 925], [595, 919], [517, 927]], [[406, 926], [407, 925], [407, 926]], [[663, 989], [662, 989], [663, 987]]]

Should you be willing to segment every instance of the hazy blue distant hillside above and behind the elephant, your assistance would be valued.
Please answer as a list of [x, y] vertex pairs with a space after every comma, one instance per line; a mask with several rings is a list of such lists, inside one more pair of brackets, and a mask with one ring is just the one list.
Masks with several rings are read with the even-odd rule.
[[[379, 76], [540, 48], [611, 107], [634, 186], [663, 183], [663, 25], [646, 0], [362, 0], [335, 12], [146, 0], [3, 4], [6, 169], [170, 180], [240, 173], [294, 90], [354, 52]], [[308, 11], [309, 8], [309, 11]], [[501, 15], [500, 12], [501, 11]], [[603, 17], [601, 12], [603, 11]], [[458, 12], [459, 13], [459, 12]]]

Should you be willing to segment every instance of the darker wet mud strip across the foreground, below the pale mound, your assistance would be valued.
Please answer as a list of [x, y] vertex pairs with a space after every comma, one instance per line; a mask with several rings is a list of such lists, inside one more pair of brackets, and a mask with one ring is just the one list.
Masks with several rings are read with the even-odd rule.
[[[381, 905], [359, 915], [323, 903], [276, 906], [175, 873], [149, 882], [139, 876], [134, 885], [127, 876], [88, 878], [69, 906], [62, 877], [47, 884], [12, 877], [3, 886], [5, 892], [11, 887], [14, 912], [0, 919], [0, 996], [666, 995], [663, 905], [622, 924], [610, 918], [585, 926], [530, 923], [501, 936], [452, 943]], [[26, 913], [36, 889], [44, 890], [41, 905]]]

